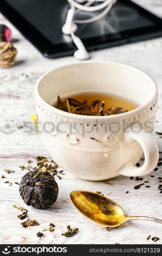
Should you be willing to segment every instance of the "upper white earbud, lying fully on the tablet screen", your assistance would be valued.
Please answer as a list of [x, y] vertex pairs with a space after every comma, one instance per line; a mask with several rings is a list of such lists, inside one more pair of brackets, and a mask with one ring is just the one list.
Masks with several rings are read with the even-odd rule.
[[74, 11], [75, 11], [75, 8], [69, 9], [66, 22], [62, 28], [63, 33], [66, 35], [70, 35], [71, 32], [75, 32], [77, 30], [76, 24], [73, 23]]

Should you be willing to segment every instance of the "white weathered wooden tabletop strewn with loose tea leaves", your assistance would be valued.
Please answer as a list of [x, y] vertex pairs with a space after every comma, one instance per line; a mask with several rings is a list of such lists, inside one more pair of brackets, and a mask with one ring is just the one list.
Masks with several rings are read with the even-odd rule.
[[[162, 17], [161, 0], [136, 0], [137, 3], [155, 14]], [[144, 177], [144, 181], [149, 181], [150, 188], [141, 186], [135, 190], [134, 186], [141, 181], [130, 180], [129, 177], [117, 177], [111, 180], [114, 185], [104, 182], [89, 182], [80, 180], [66, 173], [62, 180], [56, 181], [59, 186], [59, 196], [53, 207], [46, 210], [37, 210], [26, 206], [19, 196], [18, 185], [26, 170], [21, 170], [20, 165], [29, 165], [27, 160], [37, 155], [48, 157], [46, 148], [43, 145], [39, 134], [36, 132], [25, 133], [25, 128], [17, 129], [17, 126], [23, 125], [25, 121], [31, 121], [31, 115], [35, 113], [34, 109], [34, 84], [36, 80], [46, 71], [52, 68], [63, 66], [67, 63], [74, 63], [73, 57], [60, 59], [44, 58], [2, 15], [1, 24], [8, 25], [13, 31], [15, 39], [14, 46], [18, 50], [17, 61], [10, 69], [0, 69], [0, 164], [1, 175], [6, 179], [1, 180], [1, 230], [0, 241], [5, 244], [152, 244], [152, 240], [146, 238], [159, 237], [156, 244], [162, 242], [161, 225], [148, 221], [132, 221], [125, 223], [119, 228], [107, 231], [106, 228], [98, 226], [88, 221], [80, 215], [69, 201], [69, 193], [75, 189], [86, 189], [91, 191], [102, 191], [105, 196], [119, 203], [126, 211], [127, 215], [152, 216], [162, 219], [161, 197], [157, 189], [159, 185], [158, 177], [161, 175], [162, 166], [157, 172]], [[155, 131], [162, 130], [162, 38], [138, 42], [111, 49], [105, 49], [91, 53], [92, 60], [114, 60], [125, 62], [148, 72], [154, 77], [158, 84], [159, 101], [158, 113]], [[139, 92], [140, 93], [140, 92]], [[10, 125], [11, 128], [5, 127]], [[14, 130], [11, 134], [5, 134], [2, 131]], [[155, 135], [162, 150], [160, 136]], [[34, 160], [33, 160], [34, 161]], [[7, 174], [4, 169], [13, 169], [15, 173]], [[155, 177], [151, 177], [154, 175]], [[4, 183], [5, 180], [12, 182], [12, 186]], [[161, 184], [161, 183], [160, 183]], [[129, 191], [126, 194], [126, 191]], [[28, 209], [31, 219], [36, 219], [39, 226], [23, 228], [21, 220], [17, 218], [18, 210], [12, 205], [24, 206]], [[49, 223], [53, 222], [56, 227], [54, 232], [45, 231], [45, 237], [38, 238], [37, 231], [48, 228]], [[71, 237], [62, 236], [66, 226], [78, 227], [79, 232]]]

